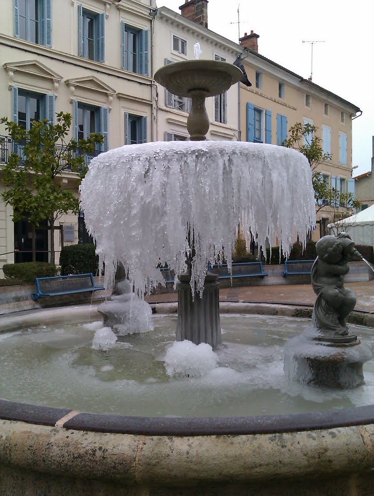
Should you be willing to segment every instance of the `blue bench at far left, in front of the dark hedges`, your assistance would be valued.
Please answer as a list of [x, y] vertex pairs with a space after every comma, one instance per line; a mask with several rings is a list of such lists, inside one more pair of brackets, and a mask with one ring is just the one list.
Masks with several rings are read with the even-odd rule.
[[105, 289], [104, 287], [96, 286], [92, 272], [70, 276], [37, 277], [35, 284], [37, 292], [31, 293], [31, 298], [35, 301], [42, 296], [70, 295]]

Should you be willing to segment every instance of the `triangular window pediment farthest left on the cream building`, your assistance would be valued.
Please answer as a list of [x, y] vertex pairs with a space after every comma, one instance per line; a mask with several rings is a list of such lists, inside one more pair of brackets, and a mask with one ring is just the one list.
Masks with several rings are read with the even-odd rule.
[[59, 83], [63, 78], [60, 74], [52, 71], [38, 61], [6, 62], [3, 64], [3, 68], [8, 74], [9, 90], [13, 86], [14, 76], [17, 80], [35, 77], [37, 79], [50, 81], [53, 85], [54, 93], [57, 94]]

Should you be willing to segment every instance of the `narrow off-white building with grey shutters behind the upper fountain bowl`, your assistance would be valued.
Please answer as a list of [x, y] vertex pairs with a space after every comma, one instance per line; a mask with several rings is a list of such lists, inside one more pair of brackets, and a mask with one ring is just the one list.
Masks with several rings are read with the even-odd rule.
[[[203, 7], [206, 1], [196, 2]], [[196, 17], [193, 1], [182, 5], [182, 15], [166, 8], [158, 8], [154, 23], [154, 68], [165, 64], [195, 58], [232, 63], [240, 48], [207, 29], [207, 10]], [[190, 12], [192, 7], [192, 12]], [[187, 12], [186, 12], [186, 10]], [[187, 14], [189, 16], [187, 17]], [[239, 137], [238, 84], [223, 95], [207, 98], [206, 109], [210, 120], [207, 138], [210, 140], [237, 141]], [[179, 98], [157, 84], [156, 140], [188, 139], [187, 118], [190, 109], [188, 98]]]

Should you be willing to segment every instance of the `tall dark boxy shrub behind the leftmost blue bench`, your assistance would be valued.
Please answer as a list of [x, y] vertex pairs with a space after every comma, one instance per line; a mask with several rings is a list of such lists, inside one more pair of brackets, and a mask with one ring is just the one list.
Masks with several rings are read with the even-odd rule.
[[92, 243], [79, 243], [62, 248], [60, 253], [61, 275], [87, 274], [96, 275], [99, 256], [95, 253]]

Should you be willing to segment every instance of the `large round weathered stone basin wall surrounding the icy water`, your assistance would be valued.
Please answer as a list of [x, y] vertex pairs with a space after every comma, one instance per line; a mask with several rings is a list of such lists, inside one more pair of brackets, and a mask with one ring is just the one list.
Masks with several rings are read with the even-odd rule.
[[[87, 306], [34, 311], [3, 317], [1, 332], [98, 318]], [[373, 405], [151, 418], [0, 400], [0, 419], [4, 495], [373, 494]]]

